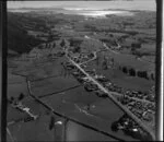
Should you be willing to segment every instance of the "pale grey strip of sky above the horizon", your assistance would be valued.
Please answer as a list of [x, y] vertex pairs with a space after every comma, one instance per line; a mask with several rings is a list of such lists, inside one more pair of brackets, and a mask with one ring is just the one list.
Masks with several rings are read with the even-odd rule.
[[8, 1], [8, 8], [86, 8], [155, 11], [155, 0], [114, 1]]

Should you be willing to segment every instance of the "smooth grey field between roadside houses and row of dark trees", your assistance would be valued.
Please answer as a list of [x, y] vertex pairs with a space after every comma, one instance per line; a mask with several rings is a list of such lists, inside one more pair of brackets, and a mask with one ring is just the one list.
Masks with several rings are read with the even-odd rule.
[[101, 63], [97, 64], [96, 61], [87, 63], [86, 70], [90, 69], [95, 69], [97, 74], [104, 74], [113, 83], [128, 90], [148, 91], [152, 87], [152, 85], [154, 85], [153, 81], [136, 76], [128, 76], [118, 69], [109, 68], [107, 70], [103, 70]]

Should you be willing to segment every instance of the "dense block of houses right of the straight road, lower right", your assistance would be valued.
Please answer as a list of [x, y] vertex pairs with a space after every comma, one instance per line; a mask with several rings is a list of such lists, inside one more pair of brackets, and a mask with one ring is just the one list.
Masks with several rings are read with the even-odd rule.
[[[115, 85], [112, 86], [114, 87]], [[113, 87], [108, 87], [108, 88], [110, 90]], [[144, 103], [143, 99], [143, 97], [147, 98], [149, 94], [143, 94], [137, 91], [127, 91], [124, 93], [121, 92], [120, 87], [118, 87], [118, 90], [117, 87], [115, 87], [115, 90], [110, 90], [110, 91], [118, 91], [118, 93], [122, 93], [124, 97], [119, 98], [118, 100], [120, 100], [122, 105], [126, 105], [130, 109], [130, 111], [134, 114], [138, 118], [149, 122], [153, 120], [155, 104], [153, 102], [147, 102], [148, 99], [145, 99], [147, 103]], [[142, 99], [143, 102], [139, 102], [134, 98]]]

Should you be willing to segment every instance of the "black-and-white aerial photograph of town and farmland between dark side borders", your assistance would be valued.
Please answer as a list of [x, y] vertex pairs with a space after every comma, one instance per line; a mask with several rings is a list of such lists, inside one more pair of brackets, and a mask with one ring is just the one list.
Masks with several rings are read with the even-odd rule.
[[155, 140], [155, 0], [7, 4], [8, 142]]

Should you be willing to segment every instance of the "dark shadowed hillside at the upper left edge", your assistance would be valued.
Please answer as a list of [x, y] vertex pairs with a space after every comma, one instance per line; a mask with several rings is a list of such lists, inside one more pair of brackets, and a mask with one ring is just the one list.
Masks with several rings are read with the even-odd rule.
[[16, 13], [8, 13], [8, 48], [17, 54], [28, 52], [34, 46], [37, 46], [42, 40], [27, 35], [25, 19]]

